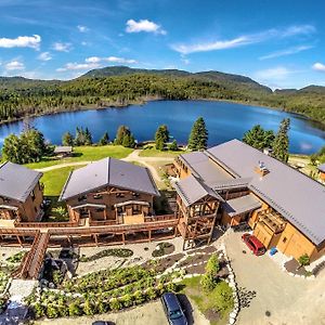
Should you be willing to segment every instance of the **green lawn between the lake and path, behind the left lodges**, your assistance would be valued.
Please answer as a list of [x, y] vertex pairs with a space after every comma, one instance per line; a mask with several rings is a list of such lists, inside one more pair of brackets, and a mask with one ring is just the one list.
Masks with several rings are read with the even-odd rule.
[[117, 159], [127, 157], [132, 153], [132, 148], [123, 147], [121, 145], [105, 145], [105, 146], [77, 146], [74, 147], [74, 157], [55, 159], [44, 158], [42, 161], [25, 165], [31, 169], [40, 169], [65, 162], [76, 161], [94, 161], [105, 157], [114, 157]]

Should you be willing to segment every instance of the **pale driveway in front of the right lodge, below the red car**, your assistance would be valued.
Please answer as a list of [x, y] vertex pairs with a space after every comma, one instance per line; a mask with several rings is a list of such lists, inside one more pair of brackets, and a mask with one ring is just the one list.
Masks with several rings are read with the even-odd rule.
[[238, 286], [257, 294], [240, 310], [237, 324], [325, 324], [325, 272], [314, 281], [292, 277], [269, 256], [251, 255], [240, 235], [231, 233], [225, 239], [227, 255]]

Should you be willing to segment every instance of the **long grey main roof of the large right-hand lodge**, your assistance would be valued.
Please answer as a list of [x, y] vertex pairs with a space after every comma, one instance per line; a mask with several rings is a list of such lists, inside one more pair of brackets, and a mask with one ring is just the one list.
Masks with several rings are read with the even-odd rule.
[[[325, 240], [325, 186], [238, 140], [207, 152], [236, 178], [251, 178], [249, 188], [314, 244]], [[259, 161], [270, 171], [263, 177], [255, 171]]]

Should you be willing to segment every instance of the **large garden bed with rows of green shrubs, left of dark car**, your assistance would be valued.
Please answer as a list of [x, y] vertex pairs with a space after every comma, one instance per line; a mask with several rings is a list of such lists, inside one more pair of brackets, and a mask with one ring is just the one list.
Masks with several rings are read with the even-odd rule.
[[37, 318], [117, 311], [178, 290], [172, 281], [180, 276], [179, 272], [157, 275], [155, 270], [143, 266], [100, 271], [64, 282], [61, 290], [36, 290], [26, 302]]

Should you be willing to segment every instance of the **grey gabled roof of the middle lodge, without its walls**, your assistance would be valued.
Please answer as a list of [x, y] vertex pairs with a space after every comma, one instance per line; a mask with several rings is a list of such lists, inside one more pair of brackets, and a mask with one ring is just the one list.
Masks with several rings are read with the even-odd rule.
[[109, 157], [74, 170], [62, 190], [60, 200], [66, 200], [105, 186], [159, 196], [155, 182], [146, 168]]

